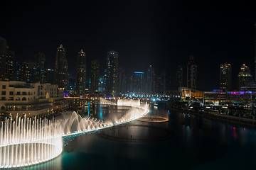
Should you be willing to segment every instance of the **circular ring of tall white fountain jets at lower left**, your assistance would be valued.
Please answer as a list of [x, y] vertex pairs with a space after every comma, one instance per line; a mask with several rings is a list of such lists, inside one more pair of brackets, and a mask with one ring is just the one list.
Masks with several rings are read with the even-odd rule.
[[0, 168], [47, 162], [62, 152], [60, 128], [54, 120], [16, 117], [1, 122]]

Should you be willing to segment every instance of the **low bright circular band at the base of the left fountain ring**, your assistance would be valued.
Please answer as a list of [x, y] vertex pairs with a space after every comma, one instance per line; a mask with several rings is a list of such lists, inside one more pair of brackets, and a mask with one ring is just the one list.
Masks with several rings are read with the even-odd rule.
[[0, 168], [17, 168], [48, 162], [63, 150], [62, 137], [49, 141], [21, 142], [0, 147]]

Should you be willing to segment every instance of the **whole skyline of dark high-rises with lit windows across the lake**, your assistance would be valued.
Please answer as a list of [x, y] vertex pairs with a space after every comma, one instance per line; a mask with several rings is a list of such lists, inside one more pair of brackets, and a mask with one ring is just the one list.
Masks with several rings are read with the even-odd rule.
[[[7, 49], [7, 50], [5, 50]], [[50, 84], [58, 84], [59, 87], [64, 87], [63, 83], [61, 83], [62, 81], [64, 81], [66, 84], [65, 85], [65, 92], [68, 92], [68, 94], [70, 95], [74, 95], [74, 89], [75, 89], [75, 95], [79, 94], [83, 94], [85, 95], [87, 92], [107, 92], [109, 88], [105, 89], [104, 91], [101, 91], [100, 89], [98, 89], [98, 87], [100, 86], [100, 77], [105, 77], [105, 88], [109, 85], [107, 85], [106, 83], [108, 82], [107, 77], [110, 77], [112, 74], [115, 74], [116, 76], [114, 76], [114, 80], [115, 85], [114, 90], [112, 91], [112, 93], [107, 92], [107, 94], [112, 94], [112, 95], [116, 95], [116, 94], [124, 94], [127, 92], [140, 92], [140, 93], [149, 93], [149, 80], [148, 77], [144, 77], [142, 76], [142, 80], [140, 81], [140, 85], [137, 84], [136, 80], [134, 79], [134, 74], [132, 74], [132, 76], [128, 76], [126, 77], [125, 74], [123, 75], [124, 78], [122, 78], [122, 74], [120, 74], [121, 72], [125, 72], [124, 69], [122, 69], [122, 66], [118, 66], [118, 52], [114, 52], [113, 50], [111, 50], [110, 52], [107, 52], [107, 65], [101, 66], [101, 69], [105, 69], [104, 74], [100, 73], [100, 64], [99, 62], [96, 60], [93, 60], [90, 64], [86, 64], [85, 62], [85, 52], [83, 52], [83, 50], [80, 50], [80, 52], [78, 52], [78, 59], [77, 59], [77, 64], [76, 64], [76, 75], [75, 77], [70, 76], [70, 72], [67, 72], [65, 70], [67, 70], [68, 68], [68, 60], [66, 60], [66, 55], [65, 55], [65, 49], [63, 48], [63, 45], [60, 44], [60, 47], [57, 48], [57, 52], [56, 52], [56, 60], [55, 60], [55, 69], [49, 69], [48, 67], [46, 67], [47, 65], [47, 61], [46, 61], [46, 56], [43, 54], [43, 52], [38, 52], [38, 54], [35, 55], [34, 60], [26, 60], [25, 62], [20, 62], [17, 61], [15, 58], [15, 52], [11, 49], [11, 47], [9, 46], [9, 43], [7, 43], [7, 41], [4, 38], [1, 38], [1, 52], [3, 56], [1, 59], [1, 63], [8, 63], [5, 65], [3, 65], [1, 67], [1, 72], [6, 72], [5, 74], [1, 73], [2, 77], [6, 77], [5, 81], [10, 81], [10, 80], [16, 80], [16, 81], [26, 81], [28, 83], [35, 83], [35, 82], [40, 82], [40, 83], [50, 83]], [[5, 52], [6, 51], [6, 52]], [[117, 53], [117, 61], [113, 62], [116, 63], [117, 65], [114, 66], [112, 65], [112, 60], [110, 60], [110, 54], [114, 54]], [[80, 61], [80, 57], [79, 56], [83, 56], [83, 59]], [[61, 59], [63, 58], [63, 59]], [[63, 61], [62, 61], [63, 60]], [[192, 89], [198, 89], [197, 88], [197, 84], [198, 84], [198, 72], [197, 72], [197, 64], [194, 62], [195, 58], [193, 57], [193, 55], [189, 56], [188, 59], [188, 64], [186, 66], [186, 70], [183, 70], [181, 65], [178, 65], [176, 67], [176, 73], [174, 72], [168, 72], [166, 75], [166, 71], [165, 69], [161, 70], [161, 74], [156, 74], [154, 72], [154, 90], [151, 91], [151, 93], [153, 94], [166, 94], [166, 93], [170, 93], [172, 90], [177, 90], [179, 87], [185, 87], [183, 84], [184, 78], [183, 78], [183, 74], [184, 71], [186, 71], [186, 87], [188, 88], [192, 88]], [[95, 74], [95, 71], [92, 70], [93, 69], [93, 62], [97, 61], [97, 73]], [[114, 61], [114, 60], [113, 60]], [[80, 63], [80, 64], [79, 64]], [[81, 65], [82, 64], [82, 65]], [[224, 64], [226, 65], [226, 63]], [[231, 65], [228, 64], [230, 67]], [[81, 67], [82, 66], [82, 67]], [[114, 66], [114, 67], [113, 67]], [[109, 72], [107, 71], [107, 69], [110, 69], [111, 67], [113, 67], [113, 72]], [[151, 65], [149, 67], [152, 67]], [[208, 91], [212, 91], [215, 89], [220, 89], [223, 91], [240, 91], [241, 87], [245, 87], [245, 86], [250, 86], [254, 84], [253, 81], [253, 77], [250, 71], [250, 67], [247, 67], [246, 64], [242, 64], [242, 67], [240, 68], [240, 72], [238, 75], [233, 75], [233, 72], [230, 72], [228, 74], [226, 74], [225, 68], [223, 69], [223, 64], [220, 64], [220, 77], [219, 77], [219, 86], [215, 86], [214, 89], [209, 89]], [[61, 73], [60, 71], [58, 71], [58, 68], [63, 68], [63, 70], [65, 71], [65, 79], [61, 78], [60, 81], [58, 81], [58, 79], [60, 78], [60, 76], [64, 75], [63, 73]], [[82, 70], [80, 70], [80, 68], [82, 68]], [[116, 69], [117, 68], [117, 69]], [[243, 69], [242, 69], [243, 68]], [[79, 70], [80, 71], [79, 71]], [[89, 73], [87, 69], [91, 69]], [[121, 70], [119, 70], [121, 69]], [[52, 70], [52, 72], [55, 72], [54, 74], [50, 74], [50, 70]], [[140, 69], [140, 70], [145, 70], [145, 69]], [[244, 71], [245, 70], [245, 71]], [[63, 71], [63, 72], [64, 72]], [[121, 72], [119, 72], [121, 71]], [[146, 71], [148, 72], [149, 69]], [[60, 72], [60, 73], [58, 73]], [[80, 72], [84, 72], [81, 75]], [[108, 76], [107, 76], [107, 72], [109, 72]], [[137, 71], [135, 71], [134, 73], [136, 73]], [[156, 71], [157, 72], [157, 71]], [[159, 72], [159, 70], [158, 70]], [[164, 72], [164, 77], [163, 77], [163, 72]], [[144, 73], [144, 72], [142, 72]], [[60, 74], [60, 76], [56, 76], [57, 74]], [[86, 79], [86, 74], [88, 74], [88, 78]], [[93, 77], [92, 75], [95, 74]], [[148, 73], [147, 73], [148, 74]], [[129, 75], [129, 74], [128, 74]], [[185, 75], [185, 74], [184, 74]], [[223, 76], [224, 77], [223, 77]], [[229, 82], [227, 82], [227, 78], [225, 78], [225, 75], [229, 75], [230, 78], [228, 78]], [[233, 75], [233, 76], [232, 76]], [[9, 77], [9, 78], [8, 78]], [[235, 77], [232, 78], [232, 77]], [[96, 78], [96, 79], [95, 79]], [[107, 78], [107, 79], [106, 79]], [[121, 79], [120, 79], [121, 78]], [[53, 80], [50, 80], [53, 79]], [[55, 80], [54, 80], [55, 79]], [[80, 83], [78, 83], [78, 79], [80, 79]], [[83, 79], [83, 80], [82, 80]], [[127, 81], [127, 79], [129, 79]], [[4, 80], [4, 79], [3, 79]], [[82, 81], [81, 81], [82, 80]], [[237, 81], [236, 83], [234, 83], [235, 81]], [[98, 82], [98, 84], [96, 85], [96, 82]], [[81, 85], [81, 83], [83, 85]], [[75, 85], [78, 84], [78, 85]], [[125, 85], [124, 85], [125, 84]], [[135, 85], [137, 84], [137, 85]], [[225, 85], [223, 85], [225, 84]], [[227, 86], [228, 84], [228, 86]], [[233, 84], [233, 86], [232, 86]], [[78, 87], [80, 86], [80, 87]], [[97, 89], [95, 89], [97, 86]], [[112, 85], [111, 85], [112, 86]], [[140, 90], [137, 89], [137, 87], [135, 86], [140, 86]], [[161, 87], [160, 87], [161, 86]], [[254, 85], [253, 85], [254, 86]], [[78, 89], [80, 89], [80, 92], [78, 92]], [[122, 89], [122, 91], [120, 91], [120, 89]]]

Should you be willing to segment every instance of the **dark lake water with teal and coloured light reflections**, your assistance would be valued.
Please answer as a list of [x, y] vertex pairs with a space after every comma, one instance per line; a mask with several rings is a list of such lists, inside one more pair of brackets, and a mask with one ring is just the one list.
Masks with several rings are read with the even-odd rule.
[[[92, 106], [93, 108], [93, 106]], [[128, 108], [95, 106], [110, 120]], [[256, 130], [197, 115], [151, 108], [166, 123], [132, 123], [63, 139], [63, 154], [30, 169], [255, 169]]]

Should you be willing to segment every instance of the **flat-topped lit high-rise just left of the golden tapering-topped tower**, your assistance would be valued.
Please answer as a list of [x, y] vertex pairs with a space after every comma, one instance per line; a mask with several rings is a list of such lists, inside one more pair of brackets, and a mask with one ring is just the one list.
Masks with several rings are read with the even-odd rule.
[[223, 91], [232, 90], [232, 67], [230, 64], [220, 64], [220, 89]]

